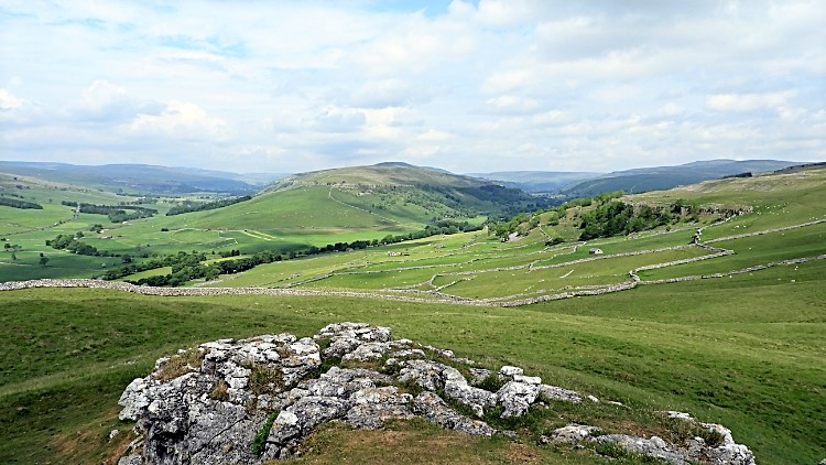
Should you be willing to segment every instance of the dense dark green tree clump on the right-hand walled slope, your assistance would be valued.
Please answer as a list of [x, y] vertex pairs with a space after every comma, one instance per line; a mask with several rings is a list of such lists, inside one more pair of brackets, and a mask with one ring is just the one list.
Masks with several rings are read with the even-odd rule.
[[669, 225], [673, 220], [670, 209], [648, 205], [634, 207], [619, 201], [604, 203], [583, 215], [579, 240], [628, 235]]

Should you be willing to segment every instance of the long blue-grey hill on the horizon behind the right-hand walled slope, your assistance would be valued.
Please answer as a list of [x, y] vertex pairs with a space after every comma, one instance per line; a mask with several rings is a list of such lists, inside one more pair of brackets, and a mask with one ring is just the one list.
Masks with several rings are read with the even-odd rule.
[[616, 171], [564, 188], [568, 197], [590, 197], [605, 192], [640, 193], [665, 191], [741, 173], [763, 173], [804, 164], [781, 160], [708, 160], [676, 166], [642, 167]]

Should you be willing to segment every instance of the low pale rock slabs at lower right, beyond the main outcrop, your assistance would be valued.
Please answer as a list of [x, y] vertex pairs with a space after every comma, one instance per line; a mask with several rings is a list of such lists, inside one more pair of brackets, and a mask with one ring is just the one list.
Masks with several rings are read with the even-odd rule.
[[660, 458], [673, 465], [688, 465], [694, 463], [754, 465], [754, 454], [749, 447], [737, 444], [731, 437], [731, 431], [716, 423], [700, 423], [689, 414], [683, 412], [665, 412], [671, 418], [698, 425], [713, 443], [699, 436], [687, 437], [680, 444], [672, 444], [659, 436], [649, 439], [628, 434], [602, 434], [596, 426], [568, 424], [554, 430], [550, 436], [543, 436], [545, 442], [565, 444], [590, 443], [597, 451], [599, 446], [613, 445], [627, 453]]

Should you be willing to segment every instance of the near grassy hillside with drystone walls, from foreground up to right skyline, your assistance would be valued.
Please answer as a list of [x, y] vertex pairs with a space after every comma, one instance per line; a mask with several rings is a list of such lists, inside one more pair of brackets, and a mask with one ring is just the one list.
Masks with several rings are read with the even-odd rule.
[[[311, 187], [280, 192], [301, 196]], [[618, 203], [633, 212], [622, 227], [645, 212], [660, 216], [628, 236], [580, 240], [586, 218]], [[250, 213], [267, 206], [249, 205]], [[178, 217], [207, 220], [221, 210]], [[665, 212], [667, 221], [657, 223]], [[117, 420], [117, 400], [157, 357], [218, 338], [308, 335], [341, 321], [392, 326], [396, 337], [449, 347], [482, 368], [524, 367], [543, 382], [624, 407], [551, 402], [551, 413], [520, 423], [526, 435], [515, 442], [415, 422], [373, 432], [325, 428], [308, 437], [298, 463], [336, 463], [341, 454], [376, 463], [377, 444], [410, 463], [609, 463], [541, 436], [580, 423], [662, 437], [666, 431], [652, 430], [662, 410], [725, 424], [760, 464], [826, 456], [826, 169], [604, 196], [502, 225], [513, 228], [507, 241], [488, 231], [436, 235], [261, 264], [192, 288], [135, 291], [175, 298], [0, 292], [9, 342], [0, 352], [9, 367], [0, 383], [0, 462], [117, 458], [132, 437], [131, 424]], [[183, 229], [154, 234], [185, 238]], [[121, 435], [106, 440], [113, 429]]]

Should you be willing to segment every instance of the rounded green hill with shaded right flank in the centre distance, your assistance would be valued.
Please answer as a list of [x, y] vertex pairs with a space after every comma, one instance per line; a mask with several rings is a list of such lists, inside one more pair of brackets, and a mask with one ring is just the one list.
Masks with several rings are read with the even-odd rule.
[[[290, 175], [251, 199], [152, 219], [187, 244], [231, 244], [246, 252], [381, 239], [427, 226], [470, 228], [546, 207], [546, 198], [469, 176], [412, 165], [354, 166]], [[466, 225], [467, 224], [467, 225]], [[119, 234], [144, 234], [132, 221]]]

